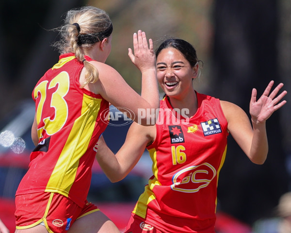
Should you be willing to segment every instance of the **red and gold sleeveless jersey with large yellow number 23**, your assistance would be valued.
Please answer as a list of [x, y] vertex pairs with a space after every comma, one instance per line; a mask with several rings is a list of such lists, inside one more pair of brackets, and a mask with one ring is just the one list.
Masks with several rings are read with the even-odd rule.
[[80, 88], [83, 66], [73, 53], [63, 54], [34, 87], [39, 144], [16, 195], [55, 192], [80, 206], [85, 203], [95, 146], [108, 124], [101, 114], [109, 103]]

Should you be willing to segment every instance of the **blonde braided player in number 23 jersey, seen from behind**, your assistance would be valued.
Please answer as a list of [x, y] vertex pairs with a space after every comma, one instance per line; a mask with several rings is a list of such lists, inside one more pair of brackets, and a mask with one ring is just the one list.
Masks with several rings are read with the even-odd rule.
[[[134, 33], [129, 57], [142, 73], [142, 96], [105, 64], [113, 25], [101, 9], [67, 12], [61, 28], [59, 62], [32, 92], [36, 145], [29, 170], [16, 192], [16, 233], [119, 233], [87, 193], [96, 144], [107, 126], [109, 102], [130, 109], [158, 108], [156, 57], [152, 40]], [[130, 116], [129, 116], [130, 117]], [[136, 119], [133, 119], [136, 120]], [[141, 122], [146, 124], [145, 121]]]

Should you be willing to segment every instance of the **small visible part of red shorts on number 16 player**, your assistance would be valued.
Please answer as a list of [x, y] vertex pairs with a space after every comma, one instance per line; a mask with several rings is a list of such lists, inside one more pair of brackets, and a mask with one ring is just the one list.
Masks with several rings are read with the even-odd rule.
[[140, 216], [131, 213], [125, 233], [162, 233], [160, 230], [145, 222]]

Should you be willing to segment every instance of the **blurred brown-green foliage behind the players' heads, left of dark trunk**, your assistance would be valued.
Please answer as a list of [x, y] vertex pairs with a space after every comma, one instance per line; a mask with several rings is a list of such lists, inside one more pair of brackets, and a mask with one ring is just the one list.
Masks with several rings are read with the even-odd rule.
[[107, 63], [116, 68], [136, 91], [140, 91], [141, 75], [128, 57], [132, 47], [132, 34], [141, 29], [152, 38], [155, 48], [165, 37], [187, 40], [197, 50], [198, 58], [205, 64], [203, 82], [197, 81], [196, 89], [208, 83], [211, 44], [211, 10], [213, 0], [89, 0], [89, 5], [108, 12], [113, 21], [112, 52]]

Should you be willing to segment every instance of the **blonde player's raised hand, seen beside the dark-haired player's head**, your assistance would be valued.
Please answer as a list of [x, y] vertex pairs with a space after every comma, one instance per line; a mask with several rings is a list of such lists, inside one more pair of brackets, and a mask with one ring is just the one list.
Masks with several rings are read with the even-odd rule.
[[146, 33], [139, 30], [133, 34], [133, 50], [129, 48], [131, 62], [141, 71], [156, 69], [156, 55], [152, 39], [149, 39], [149, 46], [146, 40]]

